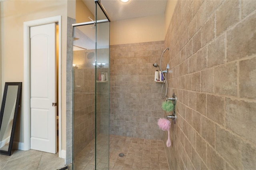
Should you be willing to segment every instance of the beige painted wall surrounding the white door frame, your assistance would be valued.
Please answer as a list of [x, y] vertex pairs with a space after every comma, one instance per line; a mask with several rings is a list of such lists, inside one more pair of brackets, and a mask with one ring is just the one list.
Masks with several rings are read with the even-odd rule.
[[[50, 3], [49, 3], [50, 2]], [[3, 1], [2, 20], [2, 91], [6, 81], [24, 81], [23, 68], [23, 22], [62, 16], [62, 149], [66, 149], [66, 32], [67, 1]], [[23, 95], [23, 94], [22, 94]], [[22, 97], [23, 99], [23, 97]], [[21, 111], [23, 110], [23, 105]], [[15, 140], [23, 142], [24, 117], [21, 112]]]

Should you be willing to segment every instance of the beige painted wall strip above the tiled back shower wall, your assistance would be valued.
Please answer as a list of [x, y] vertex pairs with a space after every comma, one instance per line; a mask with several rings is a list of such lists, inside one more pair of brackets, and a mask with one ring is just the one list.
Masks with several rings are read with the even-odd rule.
[[164, 40], [164, 15], [110, 22], [110, 45]]

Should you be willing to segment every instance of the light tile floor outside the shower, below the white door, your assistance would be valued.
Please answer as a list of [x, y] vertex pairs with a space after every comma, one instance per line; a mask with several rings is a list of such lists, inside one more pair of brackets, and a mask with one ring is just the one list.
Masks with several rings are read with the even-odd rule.
[[59, 154], [38, 150], [12, 150], [11, 156], [0, 155], [0, 170], [57, 170], [65, 160]]

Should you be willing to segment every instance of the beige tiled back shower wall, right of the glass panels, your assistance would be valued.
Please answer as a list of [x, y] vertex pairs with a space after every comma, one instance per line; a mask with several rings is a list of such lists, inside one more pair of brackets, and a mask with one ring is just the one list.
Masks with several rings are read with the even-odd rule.
[[162, 84], [154, 82], [152, 65], [163, 48], [164, 41], [110, 45], [110, 134], [163, 138]]

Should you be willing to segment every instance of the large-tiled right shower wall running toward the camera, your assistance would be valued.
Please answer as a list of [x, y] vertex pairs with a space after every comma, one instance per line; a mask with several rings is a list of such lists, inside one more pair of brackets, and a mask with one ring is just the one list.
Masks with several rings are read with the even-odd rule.
[[177, 2], [165, 38], [178, 97], [172, 170], [255, 169], [255, 9], [250, 0]]

